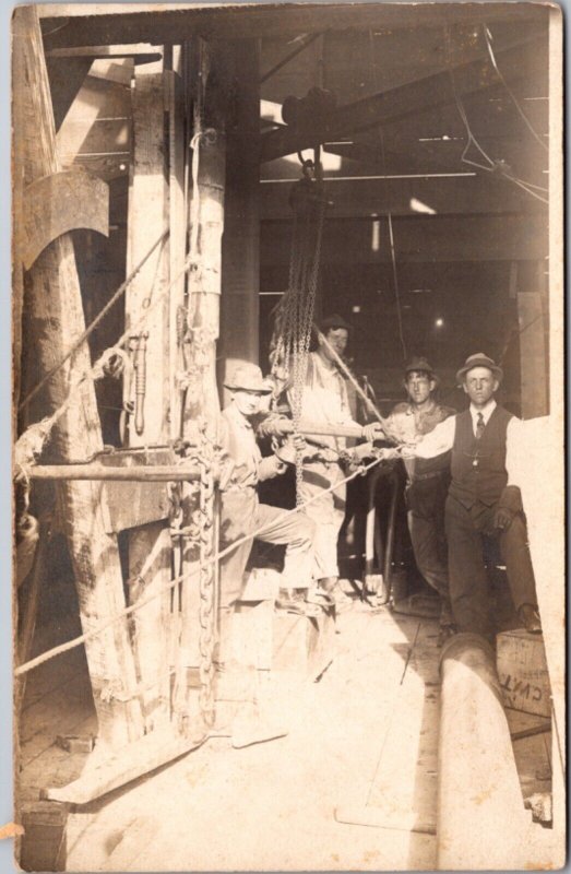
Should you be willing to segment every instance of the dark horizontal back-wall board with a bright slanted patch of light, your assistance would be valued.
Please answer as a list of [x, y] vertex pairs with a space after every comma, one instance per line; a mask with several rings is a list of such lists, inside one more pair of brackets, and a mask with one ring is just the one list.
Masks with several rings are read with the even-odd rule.
[[[467, 169], [467, 168], [466, 168]], [[462, 170], [460, 172], [462, 173]], [[292, 217], [289, 182], [265, 182], [261, 186], [262, 221]], [[361, 177], [325, 184], [331, 202], [328, 218], [364, 218], [372, 215], [471, 215], [493, 213], [544, 213], [545, 204], [530, 197], [513, 182], [487, 174], [418, 178]]]

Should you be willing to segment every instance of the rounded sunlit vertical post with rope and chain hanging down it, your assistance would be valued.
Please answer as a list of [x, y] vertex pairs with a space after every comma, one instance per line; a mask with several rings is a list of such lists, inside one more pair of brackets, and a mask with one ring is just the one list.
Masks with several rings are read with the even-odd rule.
[[[219, 298], [222, 273], [222, 235], [226, 173], [226, 120], [229, 80], [221, 50], [214, 50], [198, 38], [187, 46], [187, 87], [194, 108], [194, 133], [188, 163], [189, 178], [190, 257], [192, 269], [188, 277], [190, 345], [190, 383], [185, 406], [185, 437], [195, 438], [197, 421], [205, 427], [205, 437], [215, 441], [218, 430], [219, 402], [216, 385], [216, 341], [219, 332]], [[226, 47], [224, 48], [226, 56]], [[207, 87], [206, 87], [207, 86]], [[207, 101], [206, 101], [207, 95]], [[195, 495], [186, 488], [183, 500], [187, 513], [195, 510]], [[216, 520], [214, 520], [216, 529]], [[216, 531], [213, 532], [217, 542]], [[195, 545], [185, 544], [183, 570], [189, 575], [181, 587], [181, 637], [179, 675], [175, 708], [186, 732], [195, 730], [202, 714], [197, 710], [197, 669], [200, 654], [200, 588]], [[217, 568], [214, 586], [217, 586]], [[198, 720], [198, 723], [197, 723]]]

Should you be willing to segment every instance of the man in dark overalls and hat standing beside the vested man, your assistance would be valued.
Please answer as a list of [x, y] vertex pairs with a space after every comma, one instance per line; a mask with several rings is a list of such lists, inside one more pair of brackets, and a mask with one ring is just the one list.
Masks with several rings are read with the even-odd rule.
[[[426, 358], [413, 358], [404, 370], [408, 401], [397, 404], [388, 418], [391, 436], [416, 444], [440, 422], [455, 414], [435, 400], [438, 379]], [[450, 484], [450, 452], [431, 459], [404, 459], [408, 531], [418, 570], [441, 599], [441, 637], [453, 631], [448, 582], [444, 506]]]

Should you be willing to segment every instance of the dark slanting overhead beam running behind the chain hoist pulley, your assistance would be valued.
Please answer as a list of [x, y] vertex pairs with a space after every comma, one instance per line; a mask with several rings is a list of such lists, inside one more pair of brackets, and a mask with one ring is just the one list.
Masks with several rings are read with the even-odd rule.
[[[497, 62], [501, 64], [503, 76], [510, 81], [518, 79], [522, 74], [522, 50], [533, 48], [539, 55], [545, 43], [543, 37], [526, 39], [519, 46], [497, 52]], [[473, 94], [498, 84], [497, 73], [488, 57], [455, 67], [454, 80], [461, 95]], [[269, 131], [261, 138], [261, 161], [273, 161], [304, 149], [311, 149], [319, 143], [341, 139], [376, 125], [400, 121], [453, 102], [452, 78], [449, 70], [444, 70], [416, 82], [364, 97], [347, 106], [341, 106], [330, 113], [319, 126]]]

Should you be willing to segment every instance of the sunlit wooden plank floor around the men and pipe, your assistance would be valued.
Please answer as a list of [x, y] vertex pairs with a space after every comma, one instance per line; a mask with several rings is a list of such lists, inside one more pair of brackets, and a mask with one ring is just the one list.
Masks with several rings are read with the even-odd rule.
[[[67, 869], [433, 869], [437, 623], [355, 602], [337, 624], [336, 657], [318, 683], [286, 671], [270, 683], [272, 717], [287, 736], [243, 749], [213, 739], [78, 808]], [[82, 658], [70, 653], [29, 677], [26, 801], [85, 763], [53, 746], [58, 733], [95, 731]]]

